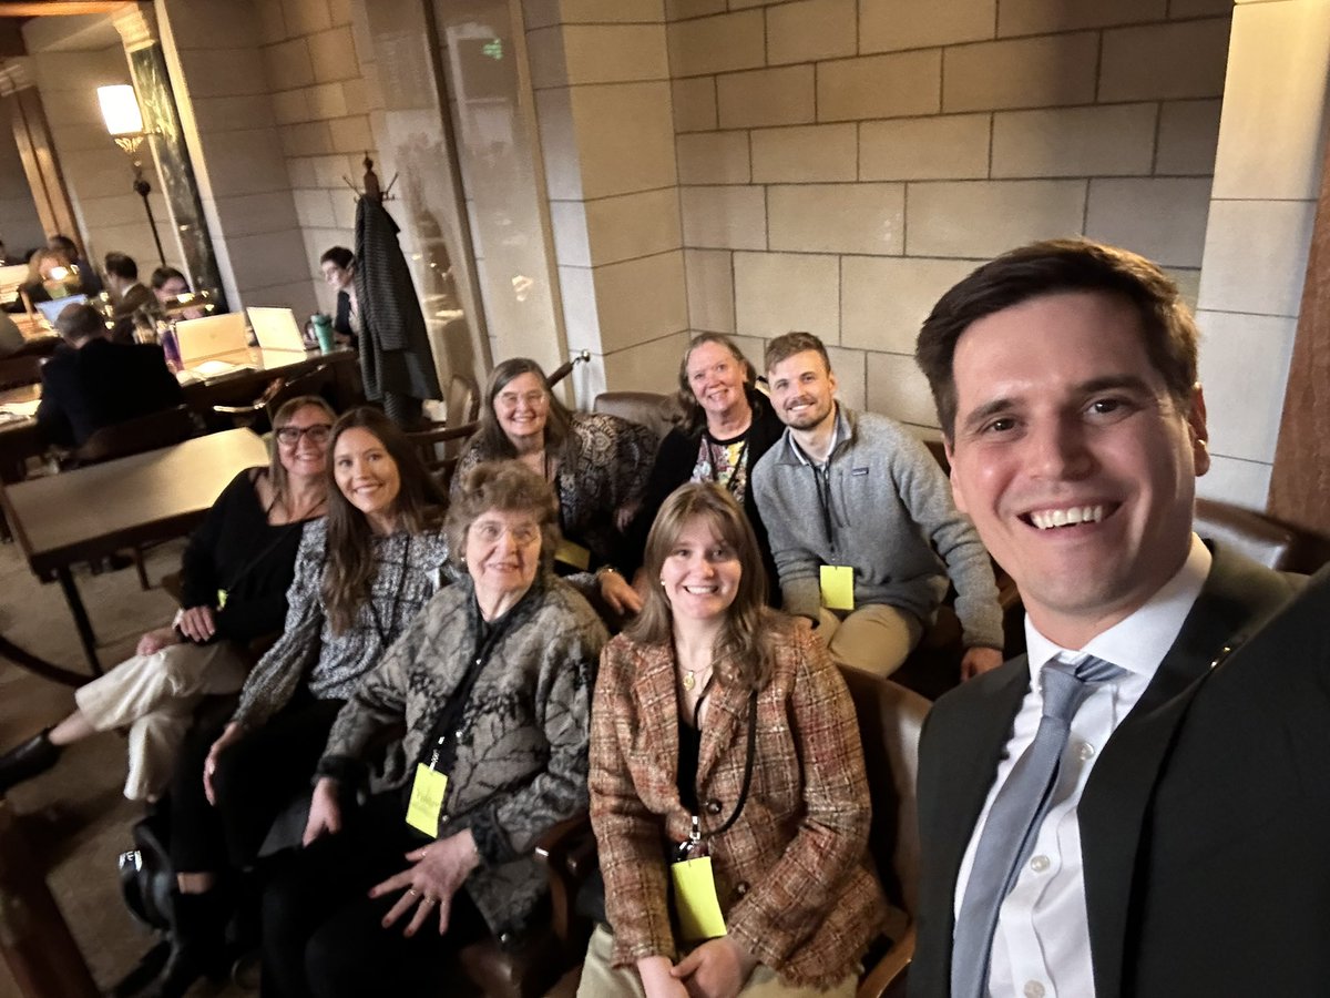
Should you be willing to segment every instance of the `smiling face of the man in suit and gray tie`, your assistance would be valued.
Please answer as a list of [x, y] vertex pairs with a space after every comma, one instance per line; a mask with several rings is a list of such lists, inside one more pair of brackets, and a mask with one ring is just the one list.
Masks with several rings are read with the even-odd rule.
[[952, 371], [956, 504], [1035, 625], [1080, 648], [1186, 558], [1209, 467], [1200, 389], [1180, 411], [1133, 307], [1096, 291], [986, 315], [960, 335]]

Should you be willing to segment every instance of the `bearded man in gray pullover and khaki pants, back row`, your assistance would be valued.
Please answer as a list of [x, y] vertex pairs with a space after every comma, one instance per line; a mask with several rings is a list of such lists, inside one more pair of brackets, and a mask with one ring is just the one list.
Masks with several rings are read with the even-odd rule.
[[753, 490], [785, 609], [813, 620], [838, 664], [886, 676], [932, 623], [950, 576], [962, 675], [1000, 665], [992, 564], [928, 448], [892, 419], [838, 405], [826, 347], [810, 333], [773, 339], [766, 373], [786, 430], [753, 470]]

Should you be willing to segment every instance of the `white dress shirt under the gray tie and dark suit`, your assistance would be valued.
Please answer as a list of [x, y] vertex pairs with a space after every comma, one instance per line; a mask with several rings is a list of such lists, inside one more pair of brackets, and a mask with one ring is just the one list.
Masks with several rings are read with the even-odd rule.
[[1029, 692], [1016, 713], [996, 778], [960, 862], [955, 897], [958, 915], [988, 810], [1039, 728], [1044, 711], [1039, 671], [1053, 659], [1079, 664], [1093, 655], [1121, 667], [1127, 675], [1116, 683], [1096, 687], [1072, 719], [1052, 806], [1039, 826], [1035, 849], [998, 915], [988, 974], [988, 994], [992, 998], [1092, 998], [1095, 994], [1076, 808], [1095, 760], [1145, 693], [1182, 629], [1182, 621], [1209, 575], [1210, 560], [1210, 552], [1193, 534], [1192, 548], [1177, 575], [1145, 605], [1080, 649], [1060, 648], [1025, 617]]

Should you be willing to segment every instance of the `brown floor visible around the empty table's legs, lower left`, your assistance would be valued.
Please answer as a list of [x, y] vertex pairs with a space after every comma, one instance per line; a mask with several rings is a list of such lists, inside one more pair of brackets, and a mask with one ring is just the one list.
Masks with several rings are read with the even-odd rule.
[[[149, 578], [176, 571], [180, 551], [180, 544], [152, 551]], [[170, 597], [160, 589], [140, 589], [132, 570], [98, 576], [84, 570], [78, 585], [102, 643], [105, 665], [129, 655], [145, 628], [173, 612]], [[13, 544], [0, 546], [0, 632], [57, 664], [85, 668], [60, 589], [41, 585]], [[66, 687], [0, 660], [0, 749], [55, 723], [72, 707]], [[129, 848], [129, 826], [140, 813], [121, 796], [122, 781], [124, 740], [106, 733], [73, 747], [55, 770], [15, 788], [8, 798], [23, 833], [49, 868], [51, 890], [101, 987], [118, 981], [153, 943], [120, 900], [116, 857]], [[576, 971], [551, 995], [571, 998], [575, 990]], [[194, 998], [253, 994], [234, 985], [207, 983], [192, 991]], [[19, 995], [0, 961], [0, 998]]]

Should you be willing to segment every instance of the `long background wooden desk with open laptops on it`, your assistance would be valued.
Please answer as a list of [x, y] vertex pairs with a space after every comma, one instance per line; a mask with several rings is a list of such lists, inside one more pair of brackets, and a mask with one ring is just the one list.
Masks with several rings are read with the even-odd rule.
[[[262, 350], [238, 350], [218, 358], [229, 363], [250, 365], [209, 381], [190, 381], [182, 385], [185, 405], [203, 416], [213, 415], [213, 406], [251, 401], [263, 394], [273, 378], [287, 382], [329, 369], [329, 381], [339, 409], [350, 409], [364, 401], [360, 385], [360, 362], [354, 350], [334, 350], [330, 354], [278, 354]], [[311, 389], [314, 391], [314, 389]], [[0, 405], [29, 402], [41, 398], [40, 386], [0, 391]], [[0, 424], [0, 482], [21, 482], [23, 468], [29, 458], [41, 456], [47, 442], [37, 430], [36, 419], [19, 419]]]

